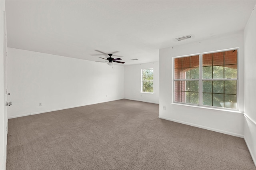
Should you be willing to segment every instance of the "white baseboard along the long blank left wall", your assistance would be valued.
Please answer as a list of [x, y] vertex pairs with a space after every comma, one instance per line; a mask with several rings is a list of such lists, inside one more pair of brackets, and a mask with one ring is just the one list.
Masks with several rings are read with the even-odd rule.
[[[121, 98], [121, 99], [124, 99], [124, 98]], [[16, 117], [29, 116], [29, 115], [36, 115], [36, 114], [40, 114], [40, 113], [47, 113], [47, 112], [53, 112], [53, 111], [60, 111], [60, 110], [64, 110], [64, 109], [71, 109], [71, 108], [74, 108], [74, 107], [81, 107], [81, 106], [87, 106], [87, 105], [94, 105], [94, 104], [105, 103], [105, 102], [109, 102], [109, 101], [116, 101], [116, 100], [121, 100], [121, 99], [114, 99], [114, 100], [108, 100], [108, 101], [100, 101], [100, 102], [94, 102], [94, 103], [87, 103], [87, 104], [84, 104], [84, 105], [77, 105], [77, 106], [71, 106], [71, 107], [62, 107], [62, 108], [58, 108], [58, 109], [40, 111], [40, 112], [35, 112], [35, 113], [26, 113], [26, 114], [22, 114], [22, 115], [16, 115], [16, 116], [8, 117], [8, 119], [12, 119], [12, 118], [16, 118]]]

